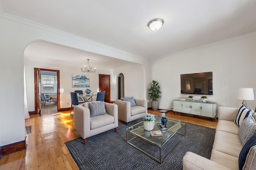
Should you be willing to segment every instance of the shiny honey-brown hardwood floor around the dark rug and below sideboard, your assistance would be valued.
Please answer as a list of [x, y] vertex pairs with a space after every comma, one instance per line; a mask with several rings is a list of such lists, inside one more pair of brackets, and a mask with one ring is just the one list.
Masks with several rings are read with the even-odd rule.
[[[148, 113], [162, 115], [159, 111]], [[27, 149], [2, 156], [0, 170], [78, 170], [64, 142], [79, 137], [74, 130], [69, 111], [56, 114], [31, 115], [25, 126], [31, 126], [27, 134]], [[167, 118], [216, 128], [217, 121], [185, 114], [166, 113]], [[117, 128], [118, 130], [118, 128]]]

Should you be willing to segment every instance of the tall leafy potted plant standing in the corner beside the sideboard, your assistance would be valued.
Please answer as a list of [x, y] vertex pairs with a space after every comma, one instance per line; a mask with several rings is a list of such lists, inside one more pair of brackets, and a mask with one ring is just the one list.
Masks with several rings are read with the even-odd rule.
[[148, 89], [148, 95], [150, 97], [151, 101], [151, 107], [152, 110], [158, 110], [158, 98], [161, 98], [160, 94], [162, 92], [160, 91], [160, 86], [158, 85], [158, 82], [153, 80], [150, 88]]

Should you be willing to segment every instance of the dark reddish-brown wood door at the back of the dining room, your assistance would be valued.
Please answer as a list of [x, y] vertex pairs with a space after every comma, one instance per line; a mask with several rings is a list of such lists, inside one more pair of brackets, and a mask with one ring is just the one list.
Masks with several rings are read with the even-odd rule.
[[99, 90], [105, 91], [105, 102], [110, 103], [110, 75], [99, 74]]

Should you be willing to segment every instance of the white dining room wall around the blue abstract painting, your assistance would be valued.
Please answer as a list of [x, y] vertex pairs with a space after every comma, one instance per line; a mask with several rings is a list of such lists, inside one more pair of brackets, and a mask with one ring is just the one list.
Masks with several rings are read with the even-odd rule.
[[[46, 68], [60, 70], [60, 108], [70, 107], [70, 92], [74, 90], [85, 90], [87, 88], [73, 88], [72, 74], [82, 74], [90, 76], [91, 93], [99, 92], [99, 74], [110, 74], [109, 70], [96, 70], [96, 73], [83, 73], [80, 67], [66, 66], [60, 64], [51, 64], [45, 62], [36, 62], [24, 59], [26, 74], [26, 90], [28, 98], [28, 111], [34, 111], [34, 68]], [[96, 99], [96, 98], [95, 98]], [[69, 105], [67, 104], [69, 103]]]

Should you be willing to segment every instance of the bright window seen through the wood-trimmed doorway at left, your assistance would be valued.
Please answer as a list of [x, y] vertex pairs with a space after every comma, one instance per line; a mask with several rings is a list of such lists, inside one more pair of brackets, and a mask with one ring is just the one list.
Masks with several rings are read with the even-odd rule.
[[56, 92], [57, 76], [41, 75], [41, 91]]

